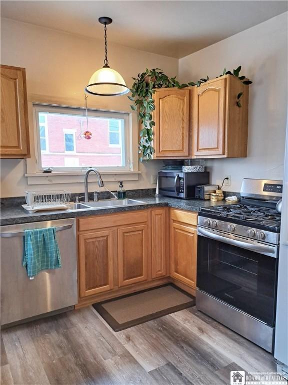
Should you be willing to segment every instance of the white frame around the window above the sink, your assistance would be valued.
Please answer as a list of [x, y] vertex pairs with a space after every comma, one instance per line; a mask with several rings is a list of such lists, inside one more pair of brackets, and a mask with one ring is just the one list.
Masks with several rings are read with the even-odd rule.
[[[49, 105], [49, 104], [33, 104], [33, 112], [34, 112], [34, 121], [35, 121], [35, 131], [36, 131], [36, 148], [35, 148], [35, 157], [36, 157], [36, 164], [37, 164], [37, 172], [42, 172], [42, 170], [45, 167], [41, 166], [41, 149], [40, 149], [40, 140], [39, 140], [39, 121], [38, 121], [38, 113], [60, 113], [60, 114], [72, 114], [72, 115], [79, 115], [79, 116], [85, 116], [85, 109], [81, 107], [69, 107], [69, 106], [59, 106], [59, 105]], [[127, 172], [127, 171], [133, 171], [132, 169], [132, 146], [131, 146], [131, 116], [128, 112], [118, 112], [118, 111], [105, 111], [105, 110], [97, 110], [97, 109], [88, 109], [88, 117], [98, 117], [101, 119], [105, 118], [111, 118], [111, 119], [123, 119], [124, 121], [124, 127], [122, 130], [120, 129], [120, 135], [121, 131], [124, 134], [124, 140], [122, 141], [122, 135], [121, 135], [121, 142], [120, 146], [122, 145], [122, 151], [121, 151], [121, 164], [122, 166], [96, 166], [96, 165], [89, 165], [89, 166], [79, 166], [79, 167], [52, 167], [52, 171], [61, 173], [61, 174], [71, 174], [71, 173], [82, 173], [89, 167], [96, 167], [98, 171], [107, 171], [109, 173], [115, 173], [118, 172]], [[69, 129], [63, 129], [69, 130]], [[72, 130], [72, 129], [71, 129]], [[70, 132], [69, 132], [70, 133]], [[119, 146], [118, 146], [119, 147]], [[75, 147], [74, 147], [75, 148]], [[72, 151], [65, 151], [65, 154], [72, 154], [76, 152]], [[108, 155], [107, 155], [108, 156]], [[136, 171], [137, 172], [137, 171]], [[26, 174], [28, 176], [29, 174]]]

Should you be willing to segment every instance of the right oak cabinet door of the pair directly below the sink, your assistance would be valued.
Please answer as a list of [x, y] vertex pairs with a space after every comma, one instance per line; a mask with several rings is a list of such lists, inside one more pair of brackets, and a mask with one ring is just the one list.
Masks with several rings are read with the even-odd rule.
[[118, 229], [119, 286], [147, 280], [147, 225]]

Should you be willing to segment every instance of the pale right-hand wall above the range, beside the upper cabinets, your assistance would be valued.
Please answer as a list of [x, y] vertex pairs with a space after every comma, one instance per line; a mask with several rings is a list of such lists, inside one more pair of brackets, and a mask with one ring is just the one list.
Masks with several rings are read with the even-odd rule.
[[231, 175], [227, 191], [239, 191], [243, 177], [282, 179], [287, 113], [287, 13], [179, 60], [181, 82], [242, 66], [249, 89], [247, 158], [211, 159], [211, 182]]

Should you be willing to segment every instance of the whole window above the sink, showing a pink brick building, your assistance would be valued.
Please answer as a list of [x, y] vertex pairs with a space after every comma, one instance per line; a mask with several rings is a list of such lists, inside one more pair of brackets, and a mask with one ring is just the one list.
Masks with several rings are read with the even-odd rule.
[[130, 170], [128, 113], [88, 110], [86, 119], [83, 108], [40, 104], [34, 111], [39, 170]]

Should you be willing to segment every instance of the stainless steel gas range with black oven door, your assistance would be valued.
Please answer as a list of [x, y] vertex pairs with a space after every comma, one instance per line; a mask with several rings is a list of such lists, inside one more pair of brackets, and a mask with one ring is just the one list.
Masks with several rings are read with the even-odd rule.
[[273, 350], [282, 181], [243, 179], [239, 204], [198, 215], [196, 308]]

